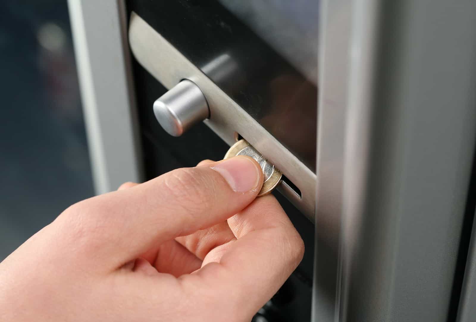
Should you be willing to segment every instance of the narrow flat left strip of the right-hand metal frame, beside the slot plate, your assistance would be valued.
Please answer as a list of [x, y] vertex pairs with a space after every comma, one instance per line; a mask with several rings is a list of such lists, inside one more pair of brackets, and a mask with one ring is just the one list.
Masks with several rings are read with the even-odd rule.
[[312, 321], [339, 321], [339, 244], [343, 216], [344, 145], [351, 0], [321, 1], [319, 8], [316, 246]]

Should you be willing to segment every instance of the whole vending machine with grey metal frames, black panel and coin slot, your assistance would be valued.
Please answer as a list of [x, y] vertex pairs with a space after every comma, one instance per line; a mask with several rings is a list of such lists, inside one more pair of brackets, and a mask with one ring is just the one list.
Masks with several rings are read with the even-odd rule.
[[306, 250], [254, 321], [475, 321], [475, 1], [69, 12], [97, 193], [236, 142], [280, 171]]

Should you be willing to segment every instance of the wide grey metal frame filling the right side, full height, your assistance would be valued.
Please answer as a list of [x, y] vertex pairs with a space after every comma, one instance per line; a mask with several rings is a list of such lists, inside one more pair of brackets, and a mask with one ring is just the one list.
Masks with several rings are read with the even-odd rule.
[[[475, 6], [323, 1], [314, 321], [456, 318], [476, 138]], [[332, 29], [342, 8], [350, 37]], [[335, 51], [342, 43], [346, 55]], [[321, 283], [329, 266], [334, 292]]]

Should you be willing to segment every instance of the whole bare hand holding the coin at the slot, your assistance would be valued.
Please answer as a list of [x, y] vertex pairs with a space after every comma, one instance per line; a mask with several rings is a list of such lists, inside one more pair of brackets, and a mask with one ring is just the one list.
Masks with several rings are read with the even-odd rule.
[[250, 321], [304, 253], [262, 184], [239, 156], [70, 206], [0, 263], [0, 321]]

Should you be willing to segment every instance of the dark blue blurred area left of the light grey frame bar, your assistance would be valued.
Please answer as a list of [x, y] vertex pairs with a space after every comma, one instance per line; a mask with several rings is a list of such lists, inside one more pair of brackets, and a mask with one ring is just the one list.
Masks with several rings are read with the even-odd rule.
[[0, 261], [93, 196], [66, 0], [0, 1]]

